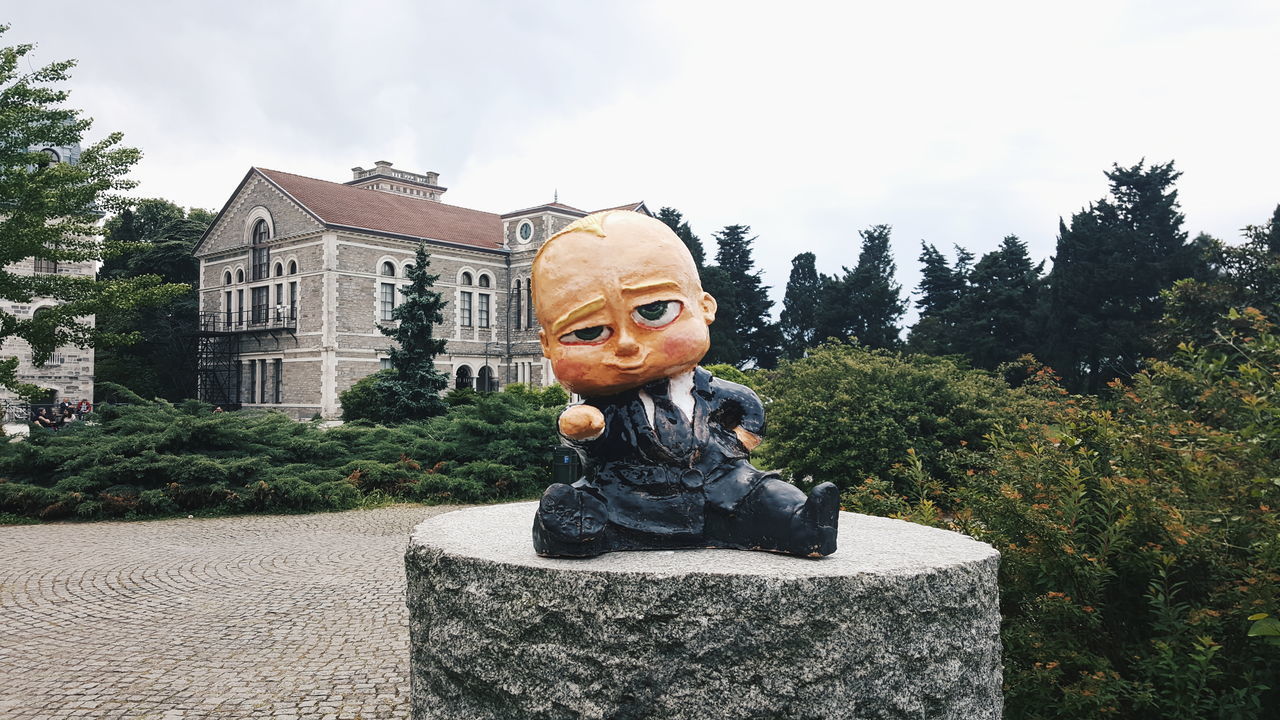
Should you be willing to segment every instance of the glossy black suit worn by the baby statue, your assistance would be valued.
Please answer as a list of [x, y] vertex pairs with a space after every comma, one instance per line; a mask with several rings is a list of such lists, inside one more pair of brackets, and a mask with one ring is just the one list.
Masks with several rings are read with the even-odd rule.
[[[797, 518], [805, 495], [776, 473], [751, 466], [733, 432], [741, 427], [764, 434], [760, 398], [696, 368], [692, 418], [672, 411], [668, 418], [678, 420], [663, 424], [657, 416], [667, 380], [645, 389], [655, 402], [655, 421], [645, 411], [640, 389], [584, 401], [604, 415], [604, 430], [588, 441], [564, 438], [582, 456], [585, 477], [572, 488], [548, 488], [534, 523], [538, 552], [598, 555], [666, 547], [792, 552], [797, 547], [797, 553], [809, 553], [800, 551], [813, 544], [808, 536], [814, 523]], [[663, 428], [660, 434], [655, 424]]]

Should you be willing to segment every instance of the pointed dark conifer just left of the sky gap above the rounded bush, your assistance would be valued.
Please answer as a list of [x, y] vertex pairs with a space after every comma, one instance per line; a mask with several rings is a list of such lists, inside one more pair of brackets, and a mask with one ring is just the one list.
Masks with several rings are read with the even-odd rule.
[[872, 225], [863, 238], [858, 265], [841, 277], [823, 277], [820, 338], [852, 340], [868, 347], [896, 347], [897, 322], [906, 311], [893, 274], [897, 265], [890, 254], [890, 225]]

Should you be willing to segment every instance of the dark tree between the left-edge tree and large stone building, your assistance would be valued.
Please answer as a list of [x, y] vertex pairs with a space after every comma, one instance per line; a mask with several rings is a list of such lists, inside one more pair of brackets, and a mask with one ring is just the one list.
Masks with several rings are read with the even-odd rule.
[[155, 274], [191, 290], [165, 304], [111, 313], [99, 327], [136, 334], [136, 345], [109, 347], [96, 357], [96, 382], [113, 382], [145, 397], [186, 400], [196, 393], [197, 284], [200, 263], [192, 250], [212, 223], [214, 213], [189, 213], [168, 200], [140, 200], [106, 222], [105, 234], [122, 251], [109, 258], [100, 278], [123, 279]]

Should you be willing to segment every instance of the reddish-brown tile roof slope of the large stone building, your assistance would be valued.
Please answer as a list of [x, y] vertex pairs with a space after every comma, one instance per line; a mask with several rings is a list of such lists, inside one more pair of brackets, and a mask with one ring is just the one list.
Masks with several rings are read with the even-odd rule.
[[502, 247], [502, 218], [420, 200], [256, 168], [325, 224], [439, 240], [485, 250]]

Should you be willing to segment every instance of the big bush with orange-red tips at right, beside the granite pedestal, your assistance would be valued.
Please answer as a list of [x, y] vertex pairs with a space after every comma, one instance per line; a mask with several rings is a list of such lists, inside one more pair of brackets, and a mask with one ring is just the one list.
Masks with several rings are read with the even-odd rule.
[[1280, 338], [1254, 310], [1230, 327], [1106, 402], [1042, 372], [1030, 384], [1060, 400], [997, 425], [959, 482], [908, 455], [895, 483], [845, 493], [1000, 550], [1006, 717], [1280, 706]]

